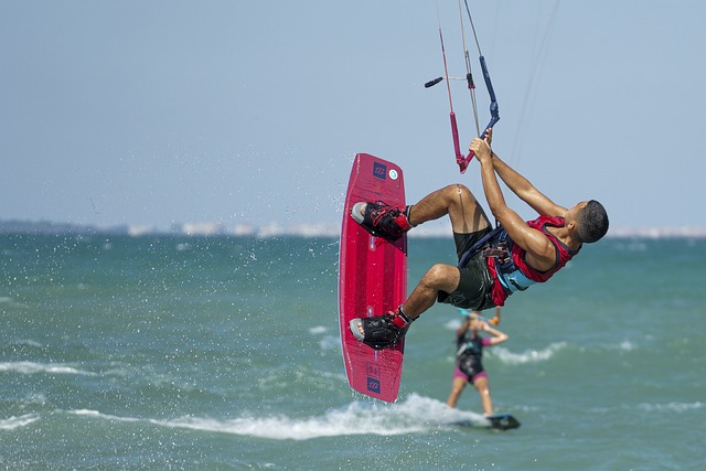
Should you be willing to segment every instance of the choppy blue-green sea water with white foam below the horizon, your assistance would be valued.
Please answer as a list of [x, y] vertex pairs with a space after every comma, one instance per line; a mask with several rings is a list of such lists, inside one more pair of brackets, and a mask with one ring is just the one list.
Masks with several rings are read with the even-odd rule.
[[[445, 406], [458, 311], [407, 334], [396, 404], [346, 383], [338, 239], [0, 236], [0, 468], [706, 469], [704, 239], [608, 238], [513, 296], [495, 409]], [[409, 288], [450, 238], [409, 240]], [[467, 418], [478, 427], [452, 427]]]

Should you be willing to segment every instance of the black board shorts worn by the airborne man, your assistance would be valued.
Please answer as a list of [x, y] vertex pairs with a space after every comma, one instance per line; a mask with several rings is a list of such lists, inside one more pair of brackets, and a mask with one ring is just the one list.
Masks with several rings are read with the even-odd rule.
[[[470, 234], [453, 233], [453, 242], [456, 243], [456, 253], [459, 258], [463, 256], [466, 250], [480, 240], [491, 231], [490, 226]], [[488, 263], [483, 257], [483, 251], [478, 250], [468, 260], [466, 266], [459, 268], [460, 280], [459, 286], [453, 292], [439, 291], [437, 297], [439, 302], [456, 306], [461, 309], [472, 309], [482, 311], [484, 309], [494, 308], [492, 293], [493, 280], [488, 271]]]

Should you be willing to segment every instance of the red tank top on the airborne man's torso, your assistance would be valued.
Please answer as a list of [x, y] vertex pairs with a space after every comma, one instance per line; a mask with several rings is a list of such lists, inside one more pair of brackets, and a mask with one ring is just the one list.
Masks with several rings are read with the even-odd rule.
[[[539, 216], [534, 221], [527, 221], [527, 225], [534, 229], [542, 231], [542, 233], [549, 238], [554, 245], [554, 249], [556, 250], [556, 263], [554, 264], [554, 267], [547, 271], [536, 270], [525, 261], [526, 250], [515, 243], [511, 245], [512, 260], [515, 264], [515, 267], [517, 267], [525, 277], [536, 282], [545, 282], [552, 278], [554, 274], [559, 271], [571, 258], [574, 258], [574, 256], [578, 254], [578, 250], [574, 251], [569, 249], [561, 240], [547, 229], [548, 226], [564, 227], [564, 217]], [[488, 258], [488, 270], [493, 278], [493, 302], [495, 306], [504, 306], [505, 299], [507, 299], [511, 292], [507, 292], [500, 282], [498, 270], [495, 269], [495, 258]]]

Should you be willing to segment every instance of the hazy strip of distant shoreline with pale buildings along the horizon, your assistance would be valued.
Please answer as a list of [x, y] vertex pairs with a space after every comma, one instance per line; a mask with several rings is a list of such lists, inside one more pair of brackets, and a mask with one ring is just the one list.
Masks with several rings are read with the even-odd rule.
[[[50, 221], [2, 221], [0, 220], [0, 234], [76, 234], [76, 235], [179, 235], [179, 236], [243, 236], [243, 237], [277, 237], [277, 236], [300, 236], [300, 237], [338, 237], [341, 232], [340, 223], [321, 224], [296, 224], [282, 226], [279, 223], [269, 223], [261, 226], [254, 224], [227, 225], [217, 223], [174, 223], [168, 229], [150, 225], [115, 225], [96, 226], [69, 223], [55, 223]], [[409, 233], [416, 237], [451, 237], [451, 229], [448, 223], [436, 223], [422, 225]], [[706, 227], [618, 227], [608, 232], [608, 237], [622, 238], [706, 238]]]

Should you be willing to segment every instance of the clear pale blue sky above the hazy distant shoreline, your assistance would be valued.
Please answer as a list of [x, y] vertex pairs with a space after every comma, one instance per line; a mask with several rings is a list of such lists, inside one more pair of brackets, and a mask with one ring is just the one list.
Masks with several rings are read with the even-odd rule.
[[[706, 226], [706, 2], [469, 3], [499, 154], [613, 227]], [[461, 75], [458, 3], [438, 4]], [[0, 0], [0, 43], [2, 220], [338, 223], [357, 152], [399, 163], [410, 201], [480, 193], [443, 84], [422, 86], [443, 71], [435, 1]]]

